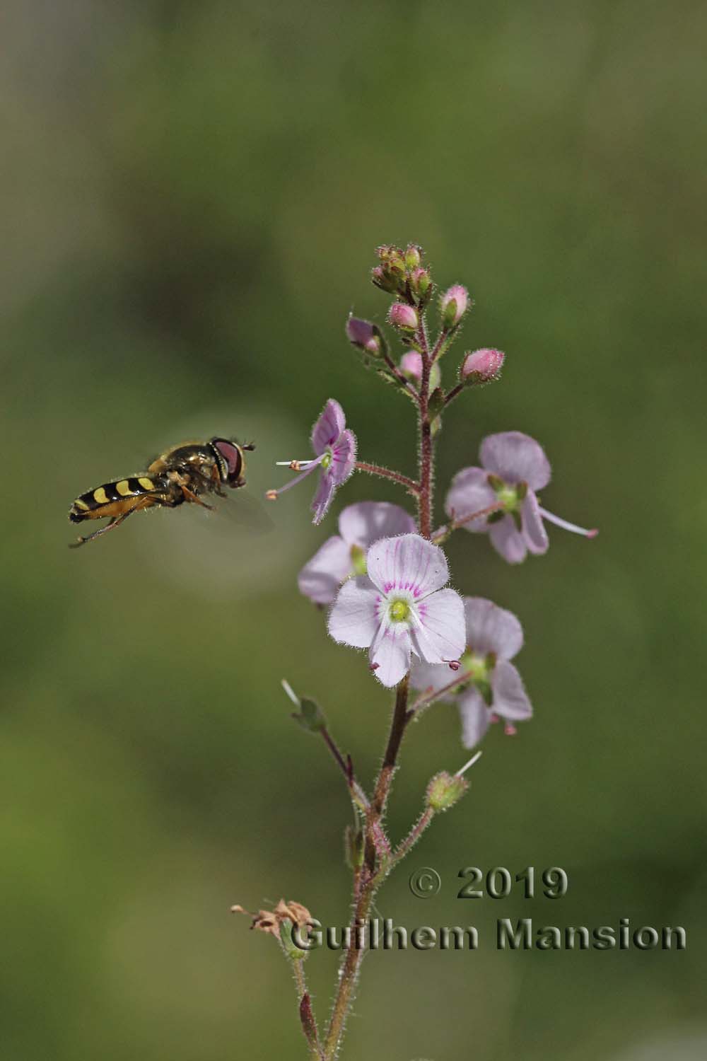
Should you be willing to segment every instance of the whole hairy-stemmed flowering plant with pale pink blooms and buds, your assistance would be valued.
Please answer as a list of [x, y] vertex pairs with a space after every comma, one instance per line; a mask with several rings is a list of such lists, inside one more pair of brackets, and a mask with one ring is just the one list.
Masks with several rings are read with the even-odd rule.
[[[333, 398], [312, 429], [314, 456], [280, 462], [297, 474], [285, 486], [268, 491], [275, 500], [310, 476], [316, 477], [313, 522], [320, 523], [334, 494], [353, 475], [364, 471], [384, 479], [414, 501], [412, 516], [397, 504], [365, 501], [339, 515], [338, 534], [329, 538], [299, 574], [300, 591], [329, 609], [326, 629], [339, 644], [368, 651], [372, 680], [394, 689], [392, 720], [383, 762], [373, 790], [356, 778], [351, 758], [343, 755], [331, 735], [319, 707], [298, 697], [297, 720], [320, 734], [339, 767], [353, 806], [354, 828], [347, 830], [349, 864], [353, 874], [351, 941], [343, 953], [334, 1004], [326, 1027], [319, 1027], [306, 988], [303, 963], [307, 951], [297, 945], [294, 929], [306, 930], [312, 918], [306, 907], [281, 900], [275, 910], [252, 915], [253, 927], [279, 940], [295, 972], [299, 1014], [310, 1057], [331, 1061], [341, 1043], [347, 1014], [360, 970], [364, 949], [354, 930], [369, 918], [385, 877], [410, 851], [436, 814], [449, 808], [466, 790], [464, 771], [443, 771], [427, 786], [423, 813], [396, 846], [387, 835], [385, 812], [403, 735], [410, 721], [437, 700], [456, 701], [461, 715], [462, 743], [473, 748], [491, 723], [505, 719], [505, 731], [530, 718], [532, 708], [512, 660], [523, 646], [523, 628], [510, 611], [481, 597], [461, 596], [450, 588], [443, 543], [456, 530], [487, 534], [509, 563], [528, 553], [547, 552], [545, 523], [555, 523], [586, 537], [583, 530], [541, 506], [537, 491], [550, 481], [543, 448], [518, 431], [490, 435], [481, 442], [479, 464], [462, 468], [447, 490], [447, 522], [432, 523], [435, 441], [447, 407], [462, 394], [497, 380], [503, 366], [500, 350], [465, 352], [456, 381], [446, 389], [440, 362], [459, 336], [472, 301], [461, 284], [454, 284], [434, 301], [435, 285], [419, 246], [377, 249], [378, 264], [371, 279], [393, 296], [388, 323], [402, 342], [396, 359], [383, 330], [351, 316], [346, 331], [364, 365], [374, 369], [412, 404], [418, 425], [418, 471], [409, 479], [377, 464], [357, 459], [354, 432]], [[430, 308], [435, 307], [430, 313]], [[428, 332], [435, 318], [437, 335]], [[412, 695], [412, 690], [417, 693]], [[245, 912], [243, 907], [234, 909]]]

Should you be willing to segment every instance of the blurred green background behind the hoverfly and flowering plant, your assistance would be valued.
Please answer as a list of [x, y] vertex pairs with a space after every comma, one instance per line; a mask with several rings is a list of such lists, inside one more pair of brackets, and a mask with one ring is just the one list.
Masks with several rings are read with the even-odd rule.
[[[535, 718], [490, 732], [381, 894], [408, 926], [476, 924], [479, 951], [367, 958], [342, 1056], [704, 1056], [706, 21], [646, 0], [4, 5], [3, 1057], [304, 1056], [284, 961], [228, 910], [348, 917], [347, 796], [280, 679], [370, 781], [390, 697], [296, 574], [344, 504], [405, 499], [359, 476], [314, 528], [307, 485], [262, 539], [184, 506], [77, 553], [66, 514], [195, 433], [254, 437], [253, 492], [279, 485], [330, 396], [361, 459], [412, 472], [411, 408], [343, 337], [351, 308], [384, 319], [374, 246], [408, 240], [476, 300], [447, 378], [464, 348], [507, 351], [446, 418], [440, 494], [484, 434], [526, 431], [545, 504], [601, 536], [550, 528], [519, 569], [449, 543], [456, 586], [524, 623]], [[411, 729], [395, 836], [463, 761], [455, 709]], [[464, 903], [467, 865], [559, 865], [570, 890]], [[410, 893], [418, 866], [439, 897]], [[688, 950], [498, 953], [495, 919], [522, 916], [682, 924]], [[336, 960], [307, 963], [322, 1017]]]

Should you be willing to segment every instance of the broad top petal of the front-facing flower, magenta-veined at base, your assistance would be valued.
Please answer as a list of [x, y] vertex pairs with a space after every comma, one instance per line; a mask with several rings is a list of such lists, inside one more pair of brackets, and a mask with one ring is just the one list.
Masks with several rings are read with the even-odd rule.
[[418, 534], [374, 542], [366, 563], [371, 579], [386, 595], [396, 589], [409, 590], [414, 599], [422, 599], [449, 578], [442, 550]]

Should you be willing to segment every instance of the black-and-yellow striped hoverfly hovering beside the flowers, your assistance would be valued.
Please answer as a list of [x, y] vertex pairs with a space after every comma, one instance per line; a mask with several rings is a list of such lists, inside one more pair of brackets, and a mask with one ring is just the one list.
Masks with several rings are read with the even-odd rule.
[[143, 508], [161, 505], [176, 508], [184, 502], [212, 509], [201, 500], [204, 493], [225, 498], [223, 486], [237, 489], [245, 486], [244, 451], [255, 449], [253, 442], [238, 445], [228, 438], [210, 438], [208, 442], [182, 442], [165, 450], [148, 466], [127, 479], [104, 483], [76, 498], [69, 510], [72, 523], [107, 518], [108, 523], [93, 534], [72, 542], [70, 549], [85, 545], [107, 530], [120, 526], [128, 516]]

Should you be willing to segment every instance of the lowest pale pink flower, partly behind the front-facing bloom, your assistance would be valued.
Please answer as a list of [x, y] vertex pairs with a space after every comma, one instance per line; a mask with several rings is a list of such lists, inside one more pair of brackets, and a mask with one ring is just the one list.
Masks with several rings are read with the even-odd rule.
[[464, 597], [466, 647], [455, 675], [448, 666], [417, 663], [410, 681], [440, 700], [459, 706], [464, 747], [473, 748], [495, 717], [513, 724], [530, 718], [532, 706], [520, 675], [510, 662], [523, 647], [523, 627], [515, 615], [483, 597]]

